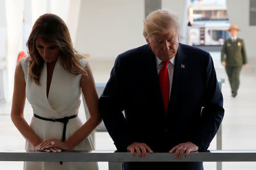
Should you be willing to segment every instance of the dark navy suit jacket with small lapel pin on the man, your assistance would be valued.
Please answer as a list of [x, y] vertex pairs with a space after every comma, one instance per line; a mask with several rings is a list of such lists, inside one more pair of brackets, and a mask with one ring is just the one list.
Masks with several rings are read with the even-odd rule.
[[168, 152], [182, 142], [207, 150], [224, 116], [222, 104], [210, 54], [179, 44], [166, 115], [155, 54], [143, 45], [115, 60], [100, 113], [119, 151], [133, 142], [144, 142], [154, 152]]

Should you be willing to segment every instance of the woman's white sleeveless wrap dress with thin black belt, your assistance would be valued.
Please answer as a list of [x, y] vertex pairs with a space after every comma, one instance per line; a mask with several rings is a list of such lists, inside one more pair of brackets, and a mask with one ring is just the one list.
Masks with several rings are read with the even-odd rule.
[[[82, 65], [85, 67], [86, 59], [81, 59]], [[53, 70], [51, 86], [49, 87], [48, 98], [46, 95], [47, 84], [47, 66], [44, 63], [41, 77], [40, 86], [36, 85], [31, 80], [31, 76], [28, 73], [29, 62], [27, 58], [21, 59], [22, 70], [24, 78], [26, 80], [26, 96], [30, 102], [34, 114], [45, 118], [63, 118], [73, 116], [79, 113], [80, 107], [80, 75], [71, 75], [64, 70], [61, 65], [60, 58], [57, 59], [55, 68]], [[63, 133], [62, 122], [51, 122], [41, 120], [36, 117], [32, 117], [31, 128], [35, 134], [42, 141], [47, 139], [56, 138], [61, 141]], [[65, 140], [72, 136], [72, 134], [82, 126], [82, 122], [79, 117], [72, 118], [68, 121]], [[26, 150], [35, 150], [35, 148], [26, 141]], [[89, 136], [73, 150], [94, 150], [93, 142]], [[24, 162], [24, 169], [98, 169], [98, 165], [95, 162], [63, 162], [61, 165], [59, 162]]]

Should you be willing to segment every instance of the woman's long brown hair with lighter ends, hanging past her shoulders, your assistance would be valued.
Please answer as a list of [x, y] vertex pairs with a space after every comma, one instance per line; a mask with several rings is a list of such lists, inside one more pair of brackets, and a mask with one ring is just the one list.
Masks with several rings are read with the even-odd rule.
[[28, 61], [30, 62], [29, 73], [38, 86], [40, 85], [44, 60], [36, 49], [37, 37], [59, 46], [61, 65], [69, 74], [87, 76], [84, 67], [80, 63], [80, 59], [84, 57], [73, 48], [71, 36], [65, 22], [55, 14], [44, 14], [36, 20], [27, 41]]

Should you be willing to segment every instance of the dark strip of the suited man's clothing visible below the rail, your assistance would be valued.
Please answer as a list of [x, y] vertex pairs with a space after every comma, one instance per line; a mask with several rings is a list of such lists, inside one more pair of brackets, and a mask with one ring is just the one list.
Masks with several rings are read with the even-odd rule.
[[[143, 158], [142, 158], [143, 159]], [[124, 162], [124, 170], [204, 170], [203, 162]]]

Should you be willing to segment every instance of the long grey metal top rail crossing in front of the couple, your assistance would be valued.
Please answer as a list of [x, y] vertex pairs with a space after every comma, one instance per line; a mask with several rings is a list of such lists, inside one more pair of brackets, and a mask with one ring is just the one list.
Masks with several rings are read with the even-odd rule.
[[192, 152], [188, 158], [174, 159], [174, 154], [153, 153], [147, 159], [131, 156], [128, 152], [63, 151], [60, 153], [0, 150], [0, 161], [32, 162], [256, 162], [256, 150], [214, 150]]

